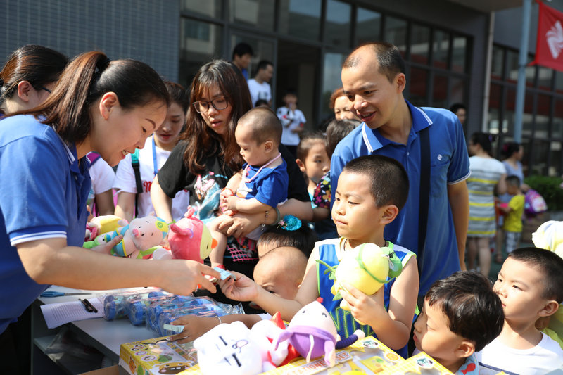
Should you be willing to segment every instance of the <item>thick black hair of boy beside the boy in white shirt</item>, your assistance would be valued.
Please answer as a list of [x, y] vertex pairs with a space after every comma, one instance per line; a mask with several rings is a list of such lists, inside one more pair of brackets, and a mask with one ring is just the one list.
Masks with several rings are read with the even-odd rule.
[[426, 300], [448, 318], [448, 328], [483, 349], [502, 331], [505, 314], [491, 281], [478, 272], [458, 271], [432, 284]]

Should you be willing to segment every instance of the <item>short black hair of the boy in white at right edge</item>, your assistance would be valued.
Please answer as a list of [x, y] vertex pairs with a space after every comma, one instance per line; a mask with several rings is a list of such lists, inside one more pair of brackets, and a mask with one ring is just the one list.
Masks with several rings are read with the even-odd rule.
[[543, 248], [517, 248], [508, 258], [536, 267], [543, 275], [543, 293], [541, 298], [563, 303], [563, 259], [550, 250]]

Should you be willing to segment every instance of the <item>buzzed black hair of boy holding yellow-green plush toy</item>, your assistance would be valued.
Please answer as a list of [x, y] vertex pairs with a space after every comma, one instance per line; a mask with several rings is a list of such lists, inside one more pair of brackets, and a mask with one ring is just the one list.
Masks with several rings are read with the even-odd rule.
[[401, 163], [384, 155], [366, 155], [350, 160], [342, 172], [364, 174], [372, 182], [369, 191], [377, 207], [403, 208], [409, 195], [409, 177]]

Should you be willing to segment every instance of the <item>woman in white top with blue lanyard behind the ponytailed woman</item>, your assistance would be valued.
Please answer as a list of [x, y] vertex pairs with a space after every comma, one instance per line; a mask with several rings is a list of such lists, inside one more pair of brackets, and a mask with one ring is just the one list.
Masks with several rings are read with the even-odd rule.
[[[188, 94], [182, 85], [174, 82], [165, 82], [168, 94], [170, 94], [170, 106], [166, 113], [163, 125], [154, 132], [153, 136], [146, 139], [145, 147], [139, 151], [139, 179], [142, 191], [137, 191], [136, 172], [132, 165], [132, 156], [127, 157], [119, 163], [115, 174], [113, 188], [118, 191], [118, 205], [115, 207], [115, 215], [131, 221], [134, 216], [144, 217], [151, 215], [154, 211], [151, 201], [151, 185], [158, 170], [164, 165], [170, 156], [172, 149], [176, 146], [179, 134], [186, 124], [186, 112], [188, 110]], [[138, 212], [135, 201], [137, 198]], [[178, 191], [172, 200], [172, 218], [182, 219], [188, 207], [188, 193], [182, 189]]]

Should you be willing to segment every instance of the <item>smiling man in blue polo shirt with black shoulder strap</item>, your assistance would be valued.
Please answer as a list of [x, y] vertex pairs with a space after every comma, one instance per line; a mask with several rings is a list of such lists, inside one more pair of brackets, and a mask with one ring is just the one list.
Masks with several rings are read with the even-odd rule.
[[[418, 257], [419, 295], [431, 284], [465, 269], [464, 252], [469, 217], [465, 179], [469, 157], [462, 126], [449, 110], [417, 108], [403, 97], [405, 63], [396, 46], [374, 43], [358, 47], [342, 68], [344, 94], [352, 112], [363, 121], [344, 138], [332, 155], [332, 190], [348, 161], [371, 153], [390, 156], [403, 164], [410, 191], [405, 208], [385, 227], [385, 238], [412, 250]], [[429, 138], [429, 197], [426, 238], [418, 246], [421, 131]], [[332, 194], [334, 200], [335, 194]]]

